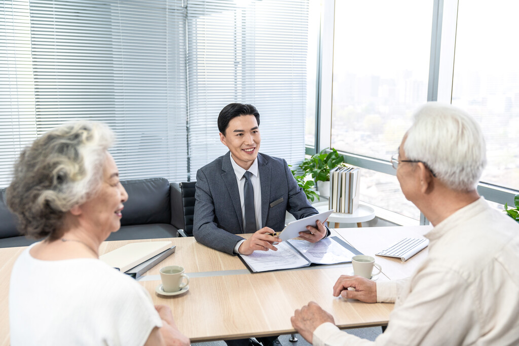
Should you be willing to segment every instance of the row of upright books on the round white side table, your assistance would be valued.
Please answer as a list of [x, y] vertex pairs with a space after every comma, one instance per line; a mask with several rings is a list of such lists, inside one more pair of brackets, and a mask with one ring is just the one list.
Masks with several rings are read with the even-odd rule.
[[359, 207], [359, 168], [338, 166], [330, 170], [330, 209], [351, 214]]

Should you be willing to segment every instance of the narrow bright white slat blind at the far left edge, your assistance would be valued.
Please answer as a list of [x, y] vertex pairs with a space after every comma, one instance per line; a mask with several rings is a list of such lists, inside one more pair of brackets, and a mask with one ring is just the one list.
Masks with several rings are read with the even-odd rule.
[[12, 165], [36, 137], [29, 5], [0, 7], [0, 188], [9, 185]]

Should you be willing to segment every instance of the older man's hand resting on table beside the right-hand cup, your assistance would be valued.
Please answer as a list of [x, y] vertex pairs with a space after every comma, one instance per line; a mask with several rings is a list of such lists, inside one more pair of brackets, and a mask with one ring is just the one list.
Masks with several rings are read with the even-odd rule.
[[[348, 290], [348, 287], [353, 287], [355, 290]], [[345, 299], [358, 299], [365, 303], [376, 303], [377, 284], [362, 276], [340, 275], [333, 286], [333, 296], [338, 297], [339, 294]]]

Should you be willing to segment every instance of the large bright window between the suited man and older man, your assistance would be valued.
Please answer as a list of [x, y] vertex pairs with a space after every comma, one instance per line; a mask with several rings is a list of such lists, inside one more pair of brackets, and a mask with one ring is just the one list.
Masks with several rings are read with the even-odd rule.
[[[427, 101], [432, 11], [432, 0], [335, 2], [332, 147], [383, 160], [397, 151]], [[362, 200], [419, 218], [395, 177], [362, 179]]]

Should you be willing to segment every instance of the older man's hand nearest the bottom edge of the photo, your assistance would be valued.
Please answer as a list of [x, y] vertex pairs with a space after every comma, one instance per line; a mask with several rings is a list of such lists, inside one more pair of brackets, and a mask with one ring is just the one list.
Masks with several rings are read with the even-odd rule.
[[310, 301], [308, 305], [302, 307], [301, 310], [296, 310], [294, 315], [290, 317], [290, 322], [292, 322], [292, 326], [297, 330], [297, 333], [301, 334], [309, 343], [312, 343], [313, 331], [321, 324], [325, 322], [335, 324], [332, 315], [321, 309], [321, 307], [313, 301]]

